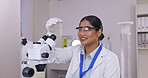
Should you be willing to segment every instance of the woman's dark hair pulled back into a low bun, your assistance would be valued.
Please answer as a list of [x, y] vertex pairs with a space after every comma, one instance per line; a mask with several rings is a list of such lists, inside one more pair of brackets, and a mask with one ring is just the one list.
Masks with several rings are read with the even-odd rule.
[[[102, 29], [102, 31], [103, 31], [102, 22], [101, 22], [101, 20], [100, 20], [97, 16], [94, 16], [94, 15], [85, 16], [85, 17], [83, 17], [83, 18], [80, 20], [80, 23], [81, 23], [83, 20], [89, 21], [89, 23], [90, 23], [92, 26], [94, 26], [95, 28], [98, 28], [98, 29], [96, 29], [96, 31], [98, 31], [99, 29]], [[80, 23], [79, 23], [79, 25], [80, 25]], [[101, 36], [99, 37], [99, 41], [100, 41], [100, 40], [103, 40], [103, 38], [104, 38], [104, 34], [102, 33]]]

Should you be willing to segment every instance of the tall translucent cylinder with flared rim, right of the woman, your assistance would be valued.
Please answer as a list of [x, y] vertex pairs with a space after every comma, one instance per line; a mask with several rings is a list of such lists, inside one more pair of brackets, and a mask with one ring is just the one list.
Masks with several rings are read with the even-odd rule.
[[121, 39], [121, 52], [120, 52], [120, 67], [121, 78], [131, 78], [131, 25], [132, 21], [119, 22], [120, 25], [120, 39]]

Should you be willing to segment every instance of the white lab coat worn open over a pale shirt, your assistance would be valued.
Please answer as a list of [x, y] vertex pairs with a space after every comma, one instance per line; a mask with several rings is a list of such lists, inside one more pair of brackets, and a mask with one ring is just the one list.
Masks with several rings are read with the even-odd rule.
[[[50, 63], [70, 63], [66, 78], [72, 78], [79, 68], [80, 52], [82, 45], [70, 46], [67, 48], [55, 48], [51, 54]], [[119, 60], [115, 53], [105, 49], [101, 50], [97, 58], [90, 78], [120, 78]]]

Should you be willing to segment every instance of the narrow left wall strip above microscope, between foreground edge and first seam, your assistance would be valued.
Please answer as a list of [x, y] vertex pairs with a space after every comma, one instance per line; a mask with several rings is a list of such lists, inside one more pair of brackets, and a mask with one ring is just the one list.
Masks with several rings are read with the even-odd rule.
[[33, 0], [21, 0], [21, 35], [33, 40]]

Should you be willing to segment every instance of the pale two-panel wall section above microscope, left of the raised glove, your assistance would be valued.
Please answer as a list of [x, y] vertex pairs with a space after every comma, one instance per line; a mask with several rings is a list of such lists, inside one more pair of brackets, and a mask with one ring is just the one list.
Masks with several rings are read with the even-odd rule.
[[21, 0], [22, 36], [38, 41], [46, 34], [49, 19], [49, 0]]

